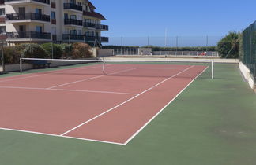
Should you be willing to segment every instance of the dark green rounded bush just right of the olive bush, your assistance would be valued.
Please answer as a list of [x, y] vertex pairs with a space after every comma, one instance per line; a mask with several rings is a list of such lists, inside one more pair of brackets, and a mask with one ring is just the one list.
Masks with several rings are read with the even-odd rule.
[[63, 49], [60, 44], [52, 44], [50, 42], [50, 43], [44, 43], [41, 46], [47, 52], [48, 57], [52, 57], [52, 53], [53, 53], [53, 58], [57, 58], [57, 59], [61, 58], [63, 55]]

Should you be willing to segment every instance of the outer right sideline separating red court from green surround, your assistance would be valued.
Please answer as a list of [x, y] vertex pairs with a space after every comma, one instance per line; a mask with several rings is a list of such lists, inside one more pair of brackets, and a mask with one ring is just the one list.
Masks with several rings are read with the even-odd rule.
[[209, 67], [205, 68], [205, 69], [204, 69], [199, 75], [197, 75], [187, 86], [185, 86], [185, 87], [183, 88], [183, 90], [181, 90], [181, 91], [179, 92], [179, 94], [177, 94], [170, 102], [168, 102], [168, 104], [165, 105], [164, 108], [162, 108], [159, 112], [157, 112], [155, 116], [152, 116], [152, 118], [149, 119], [149, 121], [148, 121], [147, 123], [145, 123], [145, 125], [144, 125], [143, 127], [141, 127], [139, 130], [137, 130], [137, 132], [136, 132], [135, 134], [133, 134], [133, 135], [124, 143], [124, 145], [127, 145], [131, 140], [133, 140], [134, 137], [136, 137], [137, 134], [139, 134], [139, 133], [141, 132], [141, 130], [143, 130], [145, 127], [147, 127], [147, 126], [149, 125], [149, 123], [152, 122], [152, 120], [156, 118], [156, 116], [158, 116], [161, 112], [163, 112], [164, 109], [167, 108], [168, 105], [170, 105], [172, 101], [175, 101], [175, 99], [176, 99], [177, 97], [179, 97], [179, 95], [182, 94], [183, 91], [186, 90], [186, 88], [187, 88], [188, 86], [190, 86], [190, 84], [193, 83], [195, 79], [198, 79], [198, 77], [199, 77], [203, 72], [205, 72], [205, 70], [208, 69], [208, 68], [209, 68]]

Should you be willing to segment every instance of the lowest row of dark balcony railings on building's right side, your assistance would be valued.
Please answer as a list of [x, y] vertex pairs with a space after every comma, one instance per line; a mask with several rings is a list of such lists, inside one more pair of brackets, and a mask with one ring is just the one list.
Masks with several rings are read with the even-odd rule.
[[69, 34], [63, 34], [62, 35], [63, 40], [77, 40], [77, 41], [85, 41], [85, 42], [94, 42], [96, 39], [99, 42], [108, 42], [107, 37], [96, 37], [96, 36], [87, 36], [87, 35], [69, 35]]

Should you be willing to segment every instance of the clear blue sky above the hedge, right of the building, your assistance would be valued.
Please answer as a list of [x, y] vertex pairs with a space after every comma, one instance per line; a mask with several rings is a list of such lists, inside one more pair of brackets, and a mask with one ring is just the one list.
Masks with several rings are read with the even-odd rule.
[[256, 20], [256, 0], [91, 0], [108, 37], [226, 35]]

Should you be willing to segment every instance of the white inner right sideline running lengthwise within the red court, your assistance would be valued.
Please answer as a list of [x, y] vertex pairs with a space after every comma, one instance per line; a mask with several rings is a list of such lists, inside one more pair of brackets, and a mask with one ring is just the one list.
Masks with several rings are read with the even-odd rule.
[[121, 105], [124, 105], [124, 104], [126, 104], [127, 102], [134, 100], [134, 98], [137, 98], [137, 97], [141, 96], [141, 94], [145, 94], [146, 92], [148, 92], [149, 90], [152, 90], [152, 89], [155, 88], [156, 86], [160, 86], [160, 84], [162, 84], [162, 83], [168, 81], [169, 79], [174, 78], [175, 76], [177, 76], [177, 75], [179, 75], [179, 74], [181, 74], [181, 73], [183, 73], [183, 72], [186, 72], [187, 70], [189, 70], [190, 68], [193, 68], [193, 67], [194, 67], [194, 65], [193, 65], [193, 66], [190, 66], [189, 68], [184, 69], [182, 72], [179, 72], [179, 73], [177, 73], [177, 74], [175, 74], [175, 75], [172, 75], [171, 77], [169, 77], [169, 78], [167, 78], [167, 79], [164, 79], [164, 80], [161, 81], [160, 83], [157, 83], [156, 85], [150, 87], [148, 90], [144, 90], [144, 91], [141, 92], [140, 94], [137, 94], [136, 96], [131, 97], [130, 99], [128, 99], [128, 100], [122, 102], [121, 104], [116, 105], [115, 107], [110, 108], [110, 109], [108, 109], [107, 111], [105, 111], [105, 112], [103, 112], [103, 113], [100, 113], [100, 115], [95, 116], [95, 117], [93, 117], [92, 119], [88, 119], [88, 120], [85, 121], [84, 123], [79, 124], [77, 127], [73, 127], [72, 129], [67, 130], [66, 132], [64, 132], [63, 134], [61, 134], [61, 136], [64, 136], [65, 134], [68, 134], [68, 133], [70, 133], [71, 131], [76, 130], [76, 129], [79, 128], [79, 127], [84, 126], [86, 123], [89, 123], [89, 122], [91, 122], [92, 120], [97, 119], [97, 118], [99, 118], [100, 116], [103, 116], [103, 115], [106, 114], [107, 112], [111, 112], [111, 111], [114, 110], [115, 108], [118, 108], [118, 107], [120, 107]]

